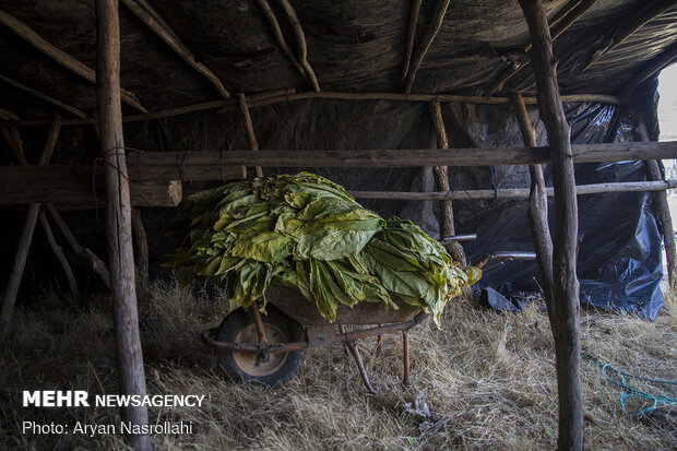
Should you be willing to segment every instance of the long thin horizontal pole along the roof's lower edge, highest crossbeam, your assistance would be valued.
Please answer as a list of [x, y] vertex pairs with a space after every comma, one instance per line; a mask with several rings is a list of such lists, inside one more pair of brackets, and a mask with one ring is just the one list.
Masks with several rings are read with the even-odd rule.
[[[276, 90], [278, 91], [278, 90]], [[274, 104], [284, 104], [289, 102], [306, 100], [311, 98], [333, 99], [333, 100], [388, 100], [388, 102], [442, 102], [442, 103], [460, 103], [460, 104], [478, 104], [478, 105], [510, 105], [510, 97], [496, 96], [467, 96], [453, 94], [401, 94], [401, 93], [335, 93], [322, 91], [319, 93], [266, 93], [247, 95], [247, 104], [250, 108], [258, 108]], [[599, 104], [620, 105], [622, 102], [619, 97], [605, 94], [570, 94], [563, 95], [562, 102], [594, 102]], [[524, 96], [526, 105], [536, 105], [536, 97]], [[181, 107], [164, 109], [140, 115], [129, 115], [122, 118], [123, 122], [138, 122], [151, 119], [163, 119], [192, 112], [207, 111], [210, 109], [218, 109], [219, 111], [239, 111], [239, 103], [237, 99], [206, 100], [197, 104], [185, 105]], [[13, 126], [35, 127], [49, 126], [50, 121], [43, 119], [19, 120], [11, 122]], [[61, 126], [90, 126], [97, 123], [96, 119], [64, 119]]]

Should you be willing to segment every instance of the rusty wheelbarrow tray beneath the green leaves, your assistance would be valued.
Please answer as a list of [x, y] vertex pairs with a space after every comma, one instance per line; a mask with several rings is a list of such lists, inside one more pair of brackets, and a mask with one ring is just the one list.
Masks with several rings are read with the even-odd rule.
[[[390, 324], [413, 319], [420, 307], [411, 306], [391, 294], [397, 310], [382, 302], [358, 302], [354, 307], [340, 304], [336, 308], [336, 324]], [[271, 284], [265, 299], [289, 318], [304, 325], [330, 325], [318, 308], [296, 288]]]

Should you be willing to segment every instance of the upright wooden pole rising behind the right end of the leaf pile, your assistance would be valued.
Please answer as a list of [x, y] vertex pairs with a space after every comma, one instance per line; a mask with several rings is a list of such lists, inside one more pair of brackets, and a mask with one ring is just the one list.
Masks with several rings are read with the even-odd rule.
[[[442, 107], [439, 102], [430, 102], [428, 104], [430, 110], [430, 119], [432, 121], [432, 128], [435, 130], [435, 137], [437, 138], [437, 146], [439, 149], [449, 149], [449, 138], [447, 135], [447, 128], [444, 127], [444, 119], [442, 117]], [[432, 175], [435, 176], [435, 185], [439, 191], [449, 191], [449, 169], [447, 166], [433, 166]], [[453, 223], [453, 205], [451, 199], [440, 201], [440, 236], [450, 237], [455, 235], [455, 227]], [[450, 241], [447, 246], [447, 251], [453, 259], [465, 266], [465, 252], [463, 246], [458, 241]]]

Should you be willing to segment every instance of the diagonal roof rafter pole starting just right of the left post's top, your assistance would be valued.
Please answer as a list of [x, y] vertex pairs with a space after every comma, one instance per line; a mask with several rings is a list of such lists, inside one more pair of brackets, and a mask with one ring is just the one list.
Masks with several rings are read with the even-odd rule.
[[[176, 36], [176, 33], [168, 28], [166, 22], [163, 20], [159, 22], [157, 17], [159, 14], [152, 9], [152, 7], [146, 2], [143, 5], [138, 0], [122, 0], [122, 3], [127, 8], [134, 13], [141, 22], [143, 22], [149, 29], [155, 33], [165, 44], [169, 46], [171, 50], [174, 50], [183, 61], [188, 63], [191, 68], [202, 74], [205, 79], [210, 81], [224, 98], [230, 98], [230, 93], [226, 90], [214, 72], [212, 72], [206, 66], [198, 61], [195, 56], [190, 51], [190, 49]], [[149, 11], [151, 9], [151, 11]]]

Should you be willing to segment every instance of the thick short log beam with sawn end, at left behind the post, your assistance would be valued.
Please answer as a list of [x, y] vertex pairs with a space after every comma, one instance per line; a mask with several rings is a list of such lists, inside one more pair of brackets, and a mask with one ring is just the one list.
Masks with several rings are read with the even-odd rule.
[[[104, 206], [106, 201], [102, 168], [93, 182], [91, 166], [2, 166], [0, 205], [48, 202], [78, 207]], [[181, 202], [178, 180], [131, 181], [133, 206], [176, 206]]]

